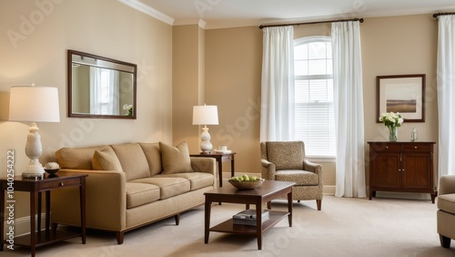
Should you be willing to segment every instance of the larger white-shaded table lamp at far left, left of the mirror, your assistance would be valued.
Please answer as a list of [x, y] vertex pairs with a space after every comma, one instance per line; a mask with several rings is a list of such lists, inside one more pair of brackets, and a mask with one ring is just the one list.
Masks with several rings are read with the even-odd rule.
[[30, 162], [23, 177], [44, 178], [45, 170], [39, 157], [43, 153], [39, 128], [35, 122], [59, 122], [58, 89], [56, 87], [11, 87], [9, 120], [31, 122], [25, 144], [25, 155]]

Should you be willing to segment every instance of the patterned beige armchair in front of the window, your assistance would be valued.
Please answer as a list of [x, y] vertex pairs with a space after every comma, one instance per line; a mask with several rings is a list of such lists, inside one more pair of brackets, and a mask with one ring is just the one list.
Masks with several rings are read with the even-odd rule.
[[261, 172], [266, 180], [296, 182], [293, 200], [322, 203], [322, 167], [308, 161], [302, 141], [265, 141], [260, 143]]

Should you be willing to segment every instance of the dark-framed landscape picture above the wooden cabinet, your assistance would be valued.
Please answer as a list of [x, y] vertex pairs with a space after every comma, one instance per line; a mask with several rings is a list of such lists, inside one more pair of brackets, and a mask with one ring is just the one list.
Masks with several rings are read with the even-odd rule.
[[425, 122], [425, 74], [377, 76], [377, 118], [399, 112], [403, 122]]

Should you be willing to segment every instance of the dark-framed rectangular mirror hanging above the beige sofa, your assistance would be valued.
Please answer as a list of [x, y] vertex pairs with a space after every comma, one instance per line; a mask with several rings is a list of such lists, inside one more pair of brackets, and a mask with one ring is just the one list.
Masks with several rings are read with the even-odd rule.
[[136, 118], [135, 64], [68, 50], [68, 117]]

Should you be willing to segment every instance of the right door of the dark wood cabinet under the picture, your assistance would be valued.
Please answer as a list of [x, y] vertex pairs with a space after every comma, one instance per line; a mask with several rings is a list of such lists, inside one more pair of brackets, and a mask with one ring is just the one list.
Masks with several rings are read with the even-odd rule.
[[430, 190], [429, 154], [403, 153], [403, 189]]

